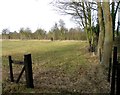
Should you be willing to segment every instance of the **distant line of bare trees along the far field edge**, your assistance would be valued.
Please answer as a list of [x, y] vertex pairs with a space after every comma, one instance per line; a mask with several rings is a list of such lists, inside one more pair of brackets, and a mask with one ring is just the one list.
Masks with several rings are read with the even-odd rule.
[[21, 40], [86, 40], [86, 34], [80, 28], [65, 27], [63, 20], [59, 20], [59, 23], [51, 28], [49, 32], [39, 28], [35, 32], [30, 28], [20, 28], [19, 31], [11, 32], [9, 29], [2, 30], [2, 39], [21, 39]]

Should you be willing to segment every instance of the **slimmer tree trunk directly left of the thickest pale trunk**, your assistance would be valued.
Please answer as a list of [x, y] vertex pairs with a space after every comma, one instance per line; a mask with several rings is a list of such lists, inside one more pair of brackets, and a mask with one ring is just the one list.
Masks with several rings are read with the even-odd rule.
[[98, 22], [99, 22], [99, 39], [98, 39], [98, 56], [101, 61], [101, 55], [103, 52], [104, 36], [105, 36], [105, 27], [103, 19], [103, 10], [100, 2], [97, 2], [98, 5]]

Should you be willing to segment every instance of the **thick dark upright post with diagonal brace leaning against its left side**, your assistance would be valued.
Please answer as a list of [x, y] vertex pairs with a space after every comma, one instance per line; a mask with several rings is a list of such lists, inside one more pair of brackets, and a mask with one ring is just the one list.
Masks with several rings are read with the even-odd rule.
[[31, 54], [24, 55], [26, 85], [28, 88], [34, 88]]

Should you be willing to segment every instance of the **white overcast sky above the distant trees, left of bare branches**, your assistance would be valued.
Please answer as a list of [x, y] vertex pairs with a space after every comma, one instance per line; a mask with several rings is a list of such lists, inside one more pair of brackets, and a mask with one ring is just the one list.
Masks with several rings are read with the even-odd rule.
[[66, 27], [75, 27], [70, 16], [60, 15], [53, 11], [49, 4], [52, 0], [0, 0], [0, 32], [8, 28], [11, 32], [21, 27], [29, 27], [32, 31], [51, 27], [63, 19]]

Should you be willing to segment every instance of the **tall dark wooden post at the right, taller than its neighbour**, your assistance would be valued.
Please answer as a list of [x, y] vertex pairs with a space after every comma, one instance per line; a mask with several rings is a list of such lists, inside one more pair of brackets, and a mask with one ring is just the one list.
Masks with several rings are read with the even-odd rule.
[[115, 75], [117, 65], [117, 47], [114, 47], [113, 52], [113, 68], [112, 68], [112, 81], [111, 81], [111, 95], [115, 95]]

